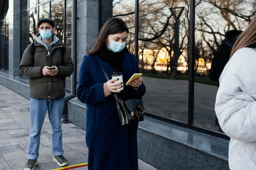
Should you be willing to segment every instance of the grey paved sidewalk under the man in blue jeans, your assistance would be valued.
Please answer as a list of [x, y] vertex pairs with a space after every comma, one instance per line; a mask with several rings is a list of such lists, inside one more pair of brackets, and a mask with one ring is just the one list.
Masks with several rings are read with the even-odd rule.
[[[24, 170], [29, 130], [29, 100], [0, 84], [0, 170]], [[87, 163], [85, 130], [71, 123], [62, 124], [62, 130], [63, 150], [68, 166]], [[51, 134], [51, 124], [46, 115], [41, 132], [38, 165], [35, 170], [61, 168], [52, 161]], [[138, 161], [139, 170], [157, 170], [141, 160]], [[72, 169], [88, 170], [87, 166]]]

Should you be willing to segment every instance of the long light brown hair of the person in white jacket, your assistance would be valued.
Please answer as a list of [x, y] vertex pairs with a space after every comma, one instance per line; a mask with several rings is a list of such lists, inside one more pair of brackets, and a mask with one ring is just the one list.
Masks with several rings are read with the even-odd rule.
[[254, 16], [254, 18], [249, 23], [249, 25], [247, 26], [245, 31], [243, 31], [243, 33], [241, 33], [238, 36], [238, 38], [237, 38], [237, 40], [236, 40], [236, 42], [235, 42], [235, 44], [234, 44], [234, 46], [231, 50], [230, 58], [239, 49], [242, 49], [242, 48], [247, 47], [251, 44], [254, 44], [255, 42], [256, 42], [256, 16]]

